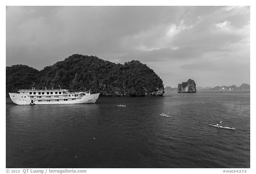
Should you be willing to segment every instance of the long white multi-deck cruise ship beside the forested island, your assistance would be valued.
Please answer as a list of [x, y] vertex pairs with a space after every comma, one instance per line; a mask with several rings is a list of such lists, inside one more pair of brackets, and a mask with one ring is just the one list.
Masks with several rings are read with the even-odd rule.
[[86, 104], [95, 103], [100, 93], [70, 93], [67, 89], [20, 89], [18, 93], [9, 93], [13, 103], [23, 104]]

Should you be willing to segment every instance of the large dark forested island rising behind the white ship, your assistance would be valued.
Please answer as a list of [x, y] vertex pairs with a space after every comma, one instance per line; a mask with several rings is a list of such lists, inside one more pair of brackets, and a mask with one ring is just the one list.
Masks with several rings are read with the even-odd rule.
[[6, 95], [18, 89], [70, 89], [100, 96], [163, 96], [161, 78], [146, 64], [133, 60], [116, 64], [73, 54], [64, 61], [36, 70], [26, 65], [6, 67]]

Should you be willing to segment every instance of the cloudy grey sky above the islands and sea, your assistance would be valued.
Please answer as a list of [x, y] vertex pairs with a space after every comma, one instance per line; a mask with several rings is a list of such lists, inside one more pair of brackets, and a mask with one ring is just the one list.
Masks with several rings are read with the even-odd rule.
[[6, 66], [42, 70], [72, 54], [139, 60], [164, 86], [250, 85], [250, 7], [9, 6]]

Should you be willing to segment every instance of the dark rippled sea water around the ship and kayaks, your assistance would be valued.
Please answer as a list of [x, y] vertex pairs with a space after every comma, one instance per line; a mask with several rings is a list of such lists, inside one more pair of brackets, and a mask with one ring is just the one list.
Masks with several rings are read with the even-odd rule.
[[[208, 126], [218, 121], [236, 130]], [[6, 98], [6, 167], [250, 168], [250, 93], [33, 106]]]

